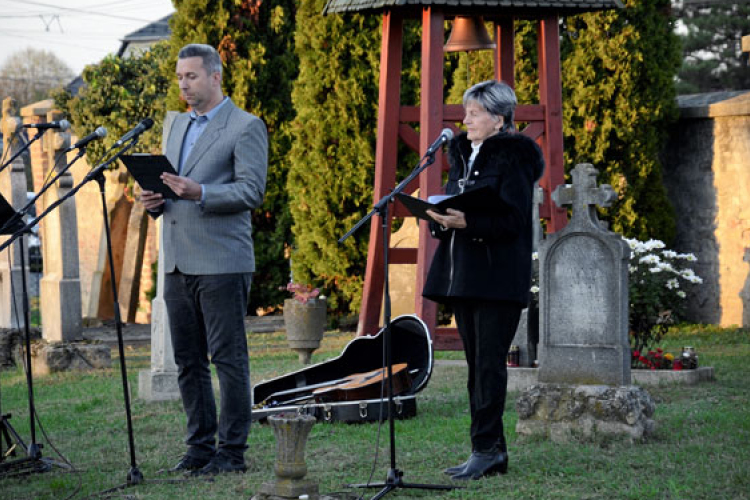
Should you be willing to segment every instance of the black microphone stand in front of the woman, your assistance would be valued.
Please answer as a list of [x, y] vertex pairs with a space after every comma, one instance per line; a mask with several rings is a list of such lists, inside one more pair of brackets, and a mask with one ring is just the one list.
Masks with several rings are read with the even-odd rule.
[[[372, 497], [372, 500], [378, 500], [383, 498], [391, 491], [404, 488], [404, 489], [423, 489], [423, 490], [452, 490], [456, 488], [462, 488], [462, 486], [453, 485], [441, 485], [441, 484], [414, 484], [406, 483], [403, 480], [404, 473], [396, 467], [396, 426], [395, 417], [393, 411], [393, 342], [392, 335], [393, 331], [391, 328], [391, 293], [390, 286], [388, 283], [388, 241], [389, 241], [389, 226], [388, 226], [388, 204], [393, 202], [395, 196], [406, 189], [411, 181], [417, 178], [427, 167], [435, 162], [435, 153], [428, 153], [422, 159], [419, 160], [417, 166], [414, 168], [411, 174], [406, 179], [401, 181], [393, 191], [385, 195], [380, 199], [372, 208], [370, 213], [360, 219], [349, 232], [342, 236], [338, 241], [343, 243], [349, 236], [357, 231], [362, 225], [369, 221], [373, 215], [378, 214], [380, 216], [380, 224], [383, 230], [383, 277], [385, 280], [384, 296], [383, 296], [383, 330], [384, 332], [384, 343], [383, 348], [385, 349], [385, 358], [387, 365], [387, 393], [388, 393], [388, 427], [390, 433], [390, 452], [391, 452], [391, 463], [386, 479], [381, 483], [365, 483], [365, 484], [352, 484], [348, 485], [352, 488], [381, 488], [381, 490]], [[382, 401], [381, 401], [382, 404]]]

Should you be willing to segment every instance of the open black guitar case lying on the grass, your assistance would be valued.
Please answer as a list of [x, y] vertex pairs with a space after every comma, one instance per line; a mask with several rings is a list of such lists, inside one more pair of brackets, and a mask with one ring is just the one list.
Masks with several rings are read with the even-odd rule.
[[[432, 340], [427, 326], [414, 315], [395, 318], [391, 321], [391, 329], [393, 365], [406, 363], [406, 372], [411, 379], [411, 388], [393, 398], [394, 416], [411, 418], [417, 414], [417, 393], [424, 389], [432, 375]], [[352, 374], [384, 368], [384, 339], [385, 328], [377, 335], [353, 339], [336, 358], [259, 382], [252, 389], [253, 420], [265, 421], [270, 415], [280, 413], [302, 413], [324, 422], [373, 422], [380, 419], [381, 411], [383, 420], [386, 420], [388, 393], [384, 388], [381, 400], [380, 383], [372, 399], [294, 402], [304, 399], [305, 395], [311, 396], [314, 387], [325, 386]]]

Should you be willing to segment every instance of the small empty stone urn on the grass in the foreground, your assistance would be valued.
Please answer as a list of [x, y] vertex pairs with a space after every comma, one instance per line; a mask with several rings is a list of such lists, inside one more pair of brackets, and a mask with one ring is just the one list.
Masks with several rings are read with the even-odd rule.
[[[268, 423], [276, 436], [276, 481], [263, 483], [258, 498], [318, 498], [318, 484], [305, 480], [305, 445], [310, 429], [315, 424], [312, 415], [284, 414], [271, 415]], [[264, 495], [266, 495], [264, 497]]]

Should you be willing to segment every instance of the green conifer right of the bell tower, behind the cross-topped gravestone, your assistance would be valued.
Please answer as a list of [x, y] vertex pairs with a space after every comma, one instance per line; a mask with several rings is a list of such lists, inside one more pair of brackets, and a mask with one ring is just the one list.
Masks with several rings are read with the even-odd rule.
[[680, 45], [669, 0], [568, 18], [562, 30], [565, 164], [592, 163], [617, 202], [604, 210], [628, 237], [674, 237], [659, 152], [676, 117]]

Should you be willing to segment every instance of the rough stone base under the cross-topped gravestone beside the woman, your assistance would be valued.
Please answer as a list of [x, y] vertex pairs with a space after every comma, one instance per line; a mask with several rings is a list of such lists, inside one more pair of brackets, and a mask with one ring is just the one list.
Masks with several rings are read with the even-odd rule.
[[656, 405], [638, 386], [539, 384], [516, 400], [516, 432], [555, 442], [623, 437], [633, 442], [651, 434]]

